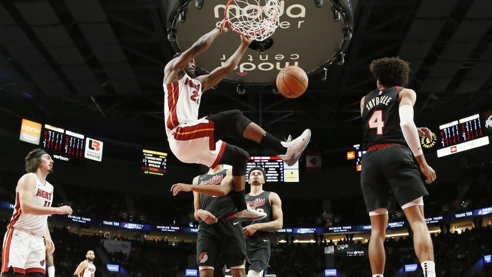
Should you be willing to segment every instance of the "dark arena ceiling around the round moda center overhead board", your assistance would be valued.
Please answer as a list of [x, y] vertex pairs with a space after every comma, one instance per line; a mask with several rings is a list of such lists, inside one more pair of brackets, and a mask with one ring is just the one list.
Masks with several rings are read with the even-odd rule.
[[[1, 112], [103, 139], [167, 147], [162, 74], [173, 51], [162, 2], [2, 0]], [[353, 4], [345, 63], [328, 67], [326, 81], [311, 76], [308, 91], [296, 100], [265, 86], [239, 95], [235, 84], [221, 83], [204, 95], [200, 115], [240, 109], [278, 136], [309, 126], [314, 145], [350, 147], [361, 137], [360, 98], [375, 88], [368, 64], [383, 56], [411, 62], [419, 125], [490, 108], [489, 0]]]

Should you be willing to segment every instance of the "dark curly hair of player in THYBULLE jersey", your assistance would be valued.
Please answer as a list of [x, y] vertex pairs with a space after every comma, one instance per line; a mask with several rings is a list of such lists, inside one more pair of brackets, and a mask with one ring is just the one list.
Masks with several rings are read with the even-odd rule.
[[381, 85], [406, 87], [410, 75], [409, 64], [399, 57], [384, 57], [373, 60], [369, 68]]

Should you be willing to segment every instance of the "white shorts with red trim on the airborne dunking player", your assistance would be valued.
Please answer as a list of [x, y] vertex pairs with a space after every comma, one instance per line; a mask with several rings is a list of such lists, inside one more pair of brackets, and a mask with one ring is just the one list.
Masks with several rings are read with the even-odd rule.
[[222, 157], [226, 143], [214, 143], [214, 123], [200, 118], [195, 122], [180, 124], [168, 137], [169, 147], [179, 161], [202, 164], [215, 168]]

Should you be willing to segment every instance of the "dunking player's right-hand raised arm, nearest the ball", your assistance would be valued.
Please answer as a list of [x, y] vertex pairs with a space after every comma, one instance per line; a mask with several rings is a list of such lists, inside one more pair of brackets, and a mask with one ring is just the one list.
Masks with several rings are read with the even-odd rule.
[[231, 71], [236, 68], [237, 64], [239, 61], [241, 61], [242, 56], [244, 55], [244, 52], [248, 48], [248, 46], [251, 44], [253, 39], [246, 37], [244, 35], [241, 35], [241, 45], [239, 48], [237, 48], [236, 52], [229, 57], [229, 59], [224, 63], [223, 66], [217, 67], [214, 69], [210, 74], [207, 75], [202, 75], [197, 77], [197, 80], [200, 81], [202, 84], [203, 90], [206, 91], [215, 85], [217, 85], [222, 79], [229, 74]]

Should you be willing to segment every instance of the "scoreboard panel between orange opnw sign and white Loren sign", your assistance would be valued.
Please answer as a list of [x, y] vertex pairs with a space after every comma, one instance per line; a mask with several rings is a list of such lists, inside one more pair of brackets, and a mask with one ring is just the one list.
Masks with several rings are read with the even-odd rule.
[[45, 149], [69, 156], [84, 155], [84, 135], [45, 124], [41, 140], [40, 146]]

